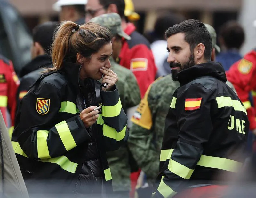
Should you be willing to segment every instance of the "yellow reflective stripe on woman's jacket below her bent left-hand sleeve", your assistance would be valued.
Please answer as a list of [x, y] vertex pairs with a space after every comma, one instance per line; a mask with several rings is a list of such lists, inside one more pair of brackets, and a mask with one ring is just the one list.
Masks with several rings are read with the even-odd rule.
[[56, 157], [56, 158], [51, 158], [51, 159], [43, 159], [43, 160], [39, 160], [41, 162], [51, 162], [51, 163], [55, 163], [58, 164], [62, 169], [71, 172], [71, 173], [75, 173], [76, 172], [76, 168], [77, 168], [77, 163], [75, 162], [71, 162], [66, 156], [62, 155], [60, 157]]

